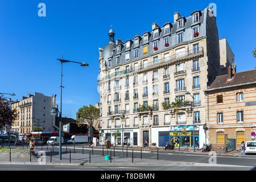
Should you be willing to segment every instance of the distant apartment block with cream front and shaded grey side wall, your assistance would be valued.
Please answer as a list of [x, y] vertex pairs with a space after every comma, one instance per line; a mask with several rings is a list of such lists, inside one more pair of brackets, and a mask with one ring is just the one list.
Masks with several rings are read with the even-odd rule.
[[50, 114], [55, 106], [55, 96], [42, 93], [28, 94], [22, 100], [13, 102], [12, 109], [19, 112], [12, 129], [24, 136], [32, 131], [55, 131], [55, 117]]

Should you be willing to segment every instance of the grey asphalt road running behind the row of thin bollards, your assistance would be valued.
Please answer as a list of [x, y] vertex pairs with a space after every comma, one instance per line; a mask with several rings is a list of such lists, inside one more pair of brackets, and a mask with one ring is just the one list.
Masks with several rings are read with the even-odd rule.
[[[19, 148], [22, 148], [19, 146]], [[38, 146], [38, 150], [41, 149], [41, 146]], [[54, 149], [55, 152], [59, 151], [59, 147], [55, 146], [54, 148], [48, 147], [48, 150]], [[43, 146], [43, 150], [46, 150], [46, 146]], [[74, 152], [74, 146], [68, 145], [67, 151], [71, 150]], [[65, 152], [65, 146], [63, 147], [63, 152]], [[82, 146], [76, 146], [75, 148], [76, 153], [82, 154]], [[88, 154], [89, 148], [84, 147], [84, 154]], [[94, 148], [93, 150], [94, 155], [102, 155], [101, 148]], [[131, 150], [128, 150], [128, 158], [131, 158]], [[108, 151], [110, 154], [110, 150]], [[121, 156], [121, 151], [119, 149], [115, 150], [115, 156]], [[107, 155], [107, 150], [104, 148], [104, 155]], [[112, 148], [112, 155], [113, 155], [113, 148]], [[123, 156], [126, 158], [126, 148], [123, 151]], [[164, 152], [159, 151], [159, 160], [170, 160], [175, 162], [190, 162], [190, 163], [204, 163], [209, 164], [210, 159], [209, 154], [201, 154], [201, 153], [182, 153], [182, 152]], [[141, 158], [141, 151], [134, 151], [134, 158]], [[157, 159], [157, 152], [156, 151], [143, 151], [142, 152], [143, 159]], [[216, 164], [224, 164], [224, 165], [232, 165], [237, 167], [249, 167], [253, 168], [256, 166], [256, 156], [255, 155], [217, 155], [216, 156]], [[150, 167], [148, 167], [150, 168]]]

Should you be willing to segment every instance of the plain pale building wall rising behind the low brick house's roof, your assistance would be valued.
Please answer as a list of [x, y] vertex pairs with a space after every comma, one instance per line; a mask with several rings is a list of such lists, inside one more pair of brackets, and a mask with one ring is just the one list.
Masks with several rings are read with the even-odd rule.
[[228, 67], [236, 69], [235, 57], [226, 38], [220, 39], [220, 74], [228, 74]]

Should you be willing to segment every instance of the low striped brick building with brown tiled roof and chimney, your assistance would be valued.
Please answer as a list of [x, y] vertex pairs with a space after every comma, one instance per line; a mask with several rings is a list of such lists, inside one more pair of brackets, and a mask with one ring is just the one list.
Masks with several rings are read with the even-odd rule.
[[217, 76], [205, 92], [208, 94], [207, 123], [209, 143], [224, 146], [224, 135], [242, 141], [251, 140], [256, 132], [256, 69]]

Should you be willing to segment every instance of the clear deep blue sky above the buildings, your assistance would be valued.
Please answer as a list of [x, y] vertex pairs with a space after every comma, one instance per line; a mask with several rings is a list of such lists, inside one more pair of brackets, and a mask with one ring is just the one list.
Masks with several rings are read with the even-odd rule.
[[[38, 4], [46, 4], [39, 18]], [[113, 25], [115, 39], [133, 39], [151, 30], [153, 22], [173, 22], [179, 11], [189, 16], [209, 3], [217, 5], [220, 38], [227, 38], [236, 56], [237, 71], [256, 67], [251, 51], [256, 47], [255, 0], [248, 1], [60, 1], [0, 0], [0, 92], [57, 94], [60, 99], [60, 63], [64, 64], [63, 114], [75, 117], [79, 107], [99, 102], [97, 92], [98, 48], [108, 43]]]

